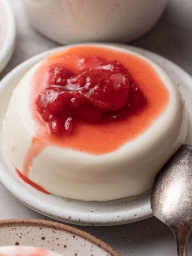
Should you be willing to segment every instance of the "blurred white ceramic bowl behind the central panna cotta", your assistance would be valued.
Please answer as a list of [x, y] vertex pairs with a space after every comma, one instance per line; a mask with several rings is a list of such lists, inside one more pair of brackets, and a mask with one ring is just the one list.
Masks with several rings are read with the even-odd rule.
[[35, 29], [61, 44], [128, 42], [157, 22], [167, 0], [22, 0]]

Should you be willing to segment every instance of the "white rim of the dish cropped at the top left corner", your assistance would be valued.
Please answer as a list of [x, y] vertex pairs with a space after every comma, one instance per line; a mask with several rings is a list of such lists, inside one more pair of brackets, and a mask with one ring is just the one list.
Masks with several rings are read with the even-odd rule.
[[[3, 7], [3, 13], [6, 16], [8, 22], [6, 24], [6, 40], [3, 40], [2, 47], [0, 49], [0, 73], [4, 70], [9, 62], [15, 47], [17, 25], [16, 19], [12, 7], [8, 0], [0, 0], [0, 6]], [[3, 24], [3, 23], [2, 23]], [[3, 26], [3, 25], [2, 25]]]

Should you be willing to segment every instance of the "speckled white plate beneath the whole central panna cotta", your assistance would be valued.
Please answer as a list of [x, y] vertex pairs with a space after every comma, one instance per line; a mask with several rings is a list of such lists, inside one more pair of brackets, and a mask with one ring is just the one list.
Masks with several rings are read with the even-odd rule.
[[[118, 45], [118, 44], [116, 44]], [[189, 129], [186, 137], [187, 143], [192, 143], [192, 78], [174, 63], [152, 52], [138, 49], [133, 46], [118, 45], [129, 50], [145, 55], [167, 71], [177, 85], [186, 104], [189, 118]], [[58, 47], [40, 55], [30, 58], [10, 72], [0, 85], [0, 122], [6, 114], [7, 105], [16, 86], [23, 74], [37, 61], [46, 55], [62, 50]], [[3, 148], [3, 132], [0, 129], [0, 181], [15, 198], [46, 216], [68, 223], [87, 226], [120, 225], [143, 220], [152, 216], [150, 206], [150, 193], [107, 202], [84, 202], [60, 198], [54, 195], [46, 195], [23, 182], [15, 172]]]

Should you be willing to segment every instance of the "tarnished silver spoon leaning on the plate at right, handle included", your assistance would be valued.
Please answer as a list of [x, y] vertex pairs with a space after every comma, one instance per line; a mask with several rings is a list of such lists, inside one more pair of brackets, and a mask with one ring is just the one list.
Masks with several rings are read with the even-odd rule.
[[178, 256], [187, 256], [192, 228], [192, 146], [182, 146], [154, 180], [151, 193], [154, 216], [171, 228]]

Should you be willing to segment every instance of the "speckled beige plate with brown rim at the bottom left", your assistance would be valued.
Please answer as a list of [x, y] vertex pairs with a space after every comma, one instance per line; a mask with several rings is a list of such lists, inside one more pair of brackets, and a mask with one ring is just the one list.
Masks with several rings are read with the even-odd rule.
[[22, 219], [0, 221], [0, 246], [14, 245], [42, 247], [67, 256], [120, 256], [94, 236], [60, 223]]

